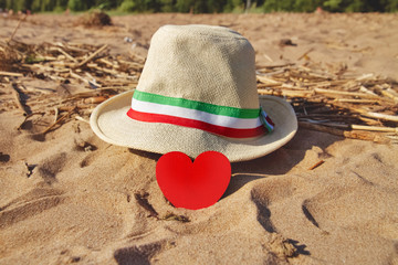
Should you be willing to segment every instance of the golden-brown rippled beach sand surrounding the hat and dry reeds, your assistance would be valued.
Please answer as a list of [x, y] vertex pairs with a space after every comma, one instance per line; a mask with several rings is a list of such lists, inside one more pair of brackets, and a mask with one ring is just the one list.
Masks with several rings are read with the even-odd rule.
[[[103, 29], [75, 21], [32, 15], [14, 39], [108, 44], [128, 54], [128, 36], [145, 57], [163, 24], [219, 24], [249, 39], [258, 65], [297, 63], [311, 50], [320, 64], [398, 81], [397, 14], [139, 14]], [[0, 19], [0, 38], [17, 24]], [[282, 39], [296, 45], [281, 46]], [[87, 91], [19, 81], [54, 100]], [[32, 134], [49, 124], [18, 130], [24, 117], [11, 95], [0, 84], [0, 264], [398, 264], [397, 145], [300, 128], [279, 150], [232, 163], [221, 200], [190, 211], [159, 190], [159, 155], [106, 144], [81, 120], [45, 137]]]

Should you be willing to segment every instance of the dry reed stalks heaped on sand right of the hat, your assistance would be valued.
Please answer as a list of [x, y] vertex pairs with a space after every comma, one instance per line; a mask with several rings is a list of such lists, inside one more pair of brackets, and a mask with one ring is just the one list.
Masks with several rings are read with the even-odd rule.
[[398, 144], [398, 84], [346, 65], [313, 62], [258, 67], [262, 95], [291, 102], [300, 127], [346, 138]]

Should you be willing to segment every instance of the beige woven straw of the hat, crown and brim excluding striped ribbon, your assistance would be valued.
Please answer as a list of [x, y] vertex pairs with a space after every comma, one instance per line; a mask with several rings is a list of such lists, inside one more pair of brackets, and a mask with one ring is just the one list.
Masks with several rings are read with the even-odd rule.
[[[153, 36], [137, 89], [214, 105], [258, 108], [254, 51], [247, 39], [221, 26], [166, 25]], [[129, 118], [134, 92], [98, 105], [91, 116], [103, 140], [158, 153], [182, 151], [196, 158], [203, 151], [222, 152], [243, 161], [264, 156], [294, 136], [295, 114], [285, 100], [266, 96], [261, 106], [275, 129], [255, 139], [231, 139], [182, 126], [143, 123]]]

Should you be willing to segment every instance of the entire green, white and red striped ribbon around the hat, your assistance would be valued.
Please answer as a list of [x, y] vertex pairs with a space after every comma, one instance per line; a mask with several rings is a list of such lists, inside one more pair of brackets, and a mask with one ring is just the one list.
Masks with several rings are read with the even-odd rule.
[[271, 132], [274, 124], [262, 108], [234, 108], [135, 91], [132, 119], [206, 130], [231, 138], [251, 138]]

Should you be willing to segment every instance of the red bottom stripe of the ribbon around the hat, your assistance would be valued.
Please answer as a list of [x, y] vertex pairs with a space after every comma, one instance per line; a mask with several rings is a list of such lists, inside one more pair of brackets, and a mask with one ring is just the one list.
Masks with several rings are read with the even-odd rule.
[[130, 117], [132, 119], [136, 119], [139, 121], [172, 124], [184, 127], [201, 129], [216, 135], [221, 135], [231, 138], [250, 138], [266, 134], [266, 129], [263, 126], [259, 126], [253, 129], [235, 129], [235, 128], [212, 125], [195, 119], [180, 118], [180, 117], [163, 115], [163, 114], [142, 113], [134, 110], [132, 108], [127, 112], [127, 116]]

